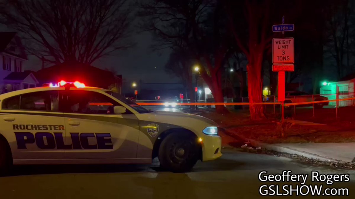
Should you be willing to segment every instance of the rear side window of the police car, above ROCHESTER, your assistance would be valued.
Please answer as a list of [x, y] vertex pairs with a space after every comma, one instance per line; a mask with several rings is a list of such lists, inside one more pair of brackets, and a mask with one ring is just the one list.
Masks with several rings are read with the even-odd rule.
[[58, 91], [25, 93], [4, 99], [2, 109], [58, 112]]

